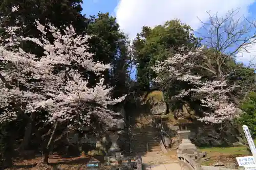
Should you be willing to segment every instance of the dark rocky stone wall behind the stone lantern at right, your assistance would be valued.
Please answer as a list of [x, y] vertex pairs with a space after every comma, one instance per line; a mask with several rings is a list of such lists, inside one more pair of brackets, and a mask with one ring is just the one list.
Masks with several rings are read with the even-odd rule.
[[[179, 144], [177, 130], [182, 128], [176, 124], [172, 125], [168, 120], [162, 119], [165, 132], [172, 139], [172, 146]], [[237, 126], [227, 124], [210, 125], [202, 122], [185, 123], [186, 130], [191, 131], [190, 140], [198, 147], [224, 147], [231, 146], [233, 143], [243, 143], [242, 135]], [[161, 124], [160, 124], [161, 125]], [[160, 127], [161, 129], [161, 127]]]

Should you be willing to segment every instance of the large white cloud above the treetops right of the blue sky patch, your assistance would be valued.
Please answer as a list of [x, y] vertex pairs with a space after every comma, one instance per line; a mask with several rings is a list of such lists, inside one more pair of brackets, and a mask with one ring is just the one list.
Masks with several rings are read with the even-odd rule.
[[[207, 21], [206, 11], [224, 16], [228, 10], [240, 8], [241, 15], [248, 15], [248, 7], [255, 0], [120, 0], [115, 9], [120, 28], [130, 37], [141, 32], [142, 26], [154, 27], [178, 18], [194, 30]], [[198, 17], [198, 18], [197, 18]]]

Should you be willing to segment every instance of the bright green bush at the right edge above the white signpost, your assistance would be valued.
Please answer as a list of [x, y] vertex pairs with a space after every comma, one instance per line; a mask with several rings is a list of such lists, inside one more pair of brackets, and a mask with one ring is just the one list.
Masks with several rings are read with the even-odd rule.
[[256, 93], [250, 92], [248, 98], [242, 104], [243, 113], [239, 117], [242, 125], [247, 125], [251, 136], [256, 137]]

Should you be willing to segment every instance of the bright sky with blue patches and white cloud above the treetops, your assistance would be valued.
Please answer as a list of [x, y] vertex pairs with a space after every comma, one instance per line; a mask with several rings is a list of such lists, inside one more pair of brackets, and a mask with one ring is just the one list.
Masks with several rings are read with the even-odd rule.
[[[238, 17], [256, 19], [256, 0], [207, 0], [207, 3], [205, 0], [83, 0], [82, 7], [87, 16], [99, 11], [116, 16], [120, 29], [131, 38], [142, 26], [154, 27], [175, 18], [198, 30], [201, 27], [198, 18], [208, 20], [206, 11], [224, 17], [229, 10], [239, 8]], [[246, 63], [256, 56], [256, 44], [248, 50], [250, 53], [241, 52], [238, 60]]]

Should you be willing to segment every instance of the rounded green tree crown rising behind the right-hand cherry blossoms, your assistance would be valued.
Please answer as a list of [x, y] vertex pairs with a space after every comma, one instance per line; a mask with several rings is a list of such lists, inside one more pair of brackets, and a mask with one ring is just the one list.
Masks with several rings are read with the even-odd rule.
[[156, 77], [151, 67], [156, 61], [163, 61], [182, 44], [197, 46], [198, 39], [188, 25], [180, 20], [166, 21], [153, 29], [143, 27], [134, 41], [135, 59], [137, 63], [137, 81], [142, 90], [149, 90], [152, 79]]

